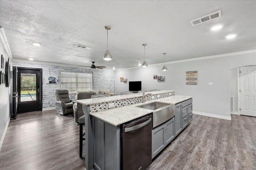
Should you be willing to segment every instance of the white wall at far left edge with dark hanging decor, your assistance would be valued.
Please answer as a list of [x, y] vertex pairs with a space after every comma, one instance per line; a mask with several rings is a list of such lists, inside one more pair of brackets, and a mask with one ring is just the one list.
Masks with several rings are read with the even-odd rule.
[[[1, 38], [0, 38], [0, 55], [4, 56], [4, 69], [0, 70], [5, 72], [5, 62], [8, 61], [8, 53], [4, 47], [6, 41], [4, 33], [1, 29]], [[10, 57], [10, 63], [12, 61], [12, 56]], [[10, 66], [12, 71], [12, 64]], [[11, 73], [12, 74], [12, 73]], [[5, 86], [5, 84], [0, 85], [0, 149], [2, 146], [2, 142], [4, 139], [4, 134], [6, 133], [8, 122], [10, 121], [10, 111], [11, 111], [11, 87], [12, 87], [12, 79], [10, 79], [9, 88]]]

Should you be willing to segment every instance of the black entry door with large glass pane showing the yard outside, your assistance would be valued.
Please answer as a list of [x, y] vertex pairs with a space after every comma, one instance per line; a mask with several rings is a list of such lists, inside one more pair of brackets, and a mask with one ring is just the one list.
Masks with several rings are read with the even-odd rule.
[[18, 68], [17, 113], [42, 111], [42, 69]]

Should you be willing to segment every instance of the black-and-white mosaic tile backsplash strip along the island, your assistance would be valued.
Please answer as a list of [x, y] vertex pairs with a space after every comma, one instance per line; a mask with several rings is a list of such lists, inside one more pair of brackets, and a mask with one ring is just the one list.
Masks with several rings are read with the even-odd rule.
[[[165, 98], [169, 96], [174, 96], [175, 92], [168, 92], [168, 93], [160, 93], [160, 94], [154, 94], [154, 99], [152, 99], [152, 96], [147, 96], [145, 98], [145, 102], [148, 102], [150, 100], [156, 100], [160, 98]], [[122, 100], [115, 100], [112, 102], [102, 102], [97, 104], [90, 105], [90, 112], [96, 112], [96, 111], [103, 111], [106, 109], [110, 109], [108, 107], [108, 104], [114, 103], [114, 107], [121, 107], [121, 106], [127, 106], [130, 104], [137, 104], [142, 102], [142, 96], [136, 97], [136, 98], [128, 98], [128, 99], [122, 99]], [[111, 107], [112, 108], [112, 107]]]

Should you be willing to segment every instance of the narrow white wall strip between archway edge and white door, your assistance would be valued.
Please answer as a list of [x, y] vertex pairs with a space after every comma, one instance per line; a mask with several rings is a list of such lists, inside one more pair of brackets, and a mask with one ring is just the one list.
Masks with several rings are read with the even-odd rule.
[[234, 107], [238, 112], [238, 77], [237, 68], [230, 70], [230, 96], [234, 96]]

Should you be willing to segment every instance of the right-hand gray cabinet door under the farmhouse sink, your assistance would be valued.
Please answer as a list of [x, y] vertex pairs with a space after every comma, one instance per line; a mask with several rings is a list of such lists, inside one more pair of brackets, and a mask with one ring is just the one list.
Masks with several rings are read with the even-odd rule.
[[175, 132], [174, 132], [174, 117], [170, 119], [168, 122], [165, 123], [165, 131], [164, 131], [164, 142], [165, 145], [168, 145], [174, 139]]

